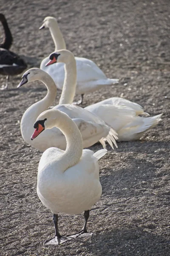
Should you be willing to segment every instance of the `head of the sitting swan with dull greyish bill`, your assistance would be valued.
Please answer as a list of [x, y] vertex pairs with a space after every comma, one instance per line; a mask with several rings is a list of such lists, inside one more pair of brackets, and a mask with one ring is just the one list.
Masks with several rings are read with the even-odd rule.
[[23, 74], [22, 80], [20, 81], [20, 84], [18, 84], [17, 88], [19, 88], [23, 84], [39, 80], [40, 76], [42, 77], [43, 75], [47, 75], [47, 73], [41, 70], [40, 68], [30, 68]]

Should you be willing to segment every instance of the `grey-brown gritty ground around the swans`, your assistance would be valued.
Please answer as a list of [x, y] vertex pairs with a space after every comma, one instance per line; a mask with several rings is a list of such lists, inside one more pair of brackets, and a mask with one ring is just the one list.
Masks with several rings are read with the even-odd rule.
[[[16, 89], [21, 76], [0, 91], [0, 256], [170, 255], [170, 2], [169, 0], [1, 0], [14, 43], [29, 67], [54, 50], [46, 16], [57, 17], [67, 48], [90, 58], [120, 82], [85, 95], [84, 106], [111, 96], [137, 102], [162, 121], [140, 141], [108, 146], [100, 160], [102, 197], [90, 212], [91, 238], [43, 246], [54, 235], [51, 212], [36, 193], [42, 152], [20, 133], [24, 111], [45, 96], [34, 82]], [[0, 76], [0, 85], [5, 77]], [[60, 93], [58, 93], [56, 104]], [[76, 97], [75, 99], [79, 99]], [[100, 144], [91, 147], [96, 151]], [[60, 233], [80, 230], [83, 215], [59, 214]]]

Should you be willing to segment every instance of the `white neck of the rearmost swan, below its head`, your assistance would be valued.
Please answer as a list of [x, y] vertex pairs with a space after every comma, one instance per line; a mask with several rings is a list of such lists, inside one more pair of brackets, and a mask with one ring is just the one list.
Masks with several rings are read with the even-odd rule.
[[53, 25], [51, 27], [49, 27], [49, 29], [50, 29], [50, 33], [51, 33], [51, 36], [54, 41], [55, 52], [58, 50], [66, 49], [65, 40], [64, 40], [62, 33], [59, 29], [57, 20], [56, 20], [56, 22], [53, 23]]

